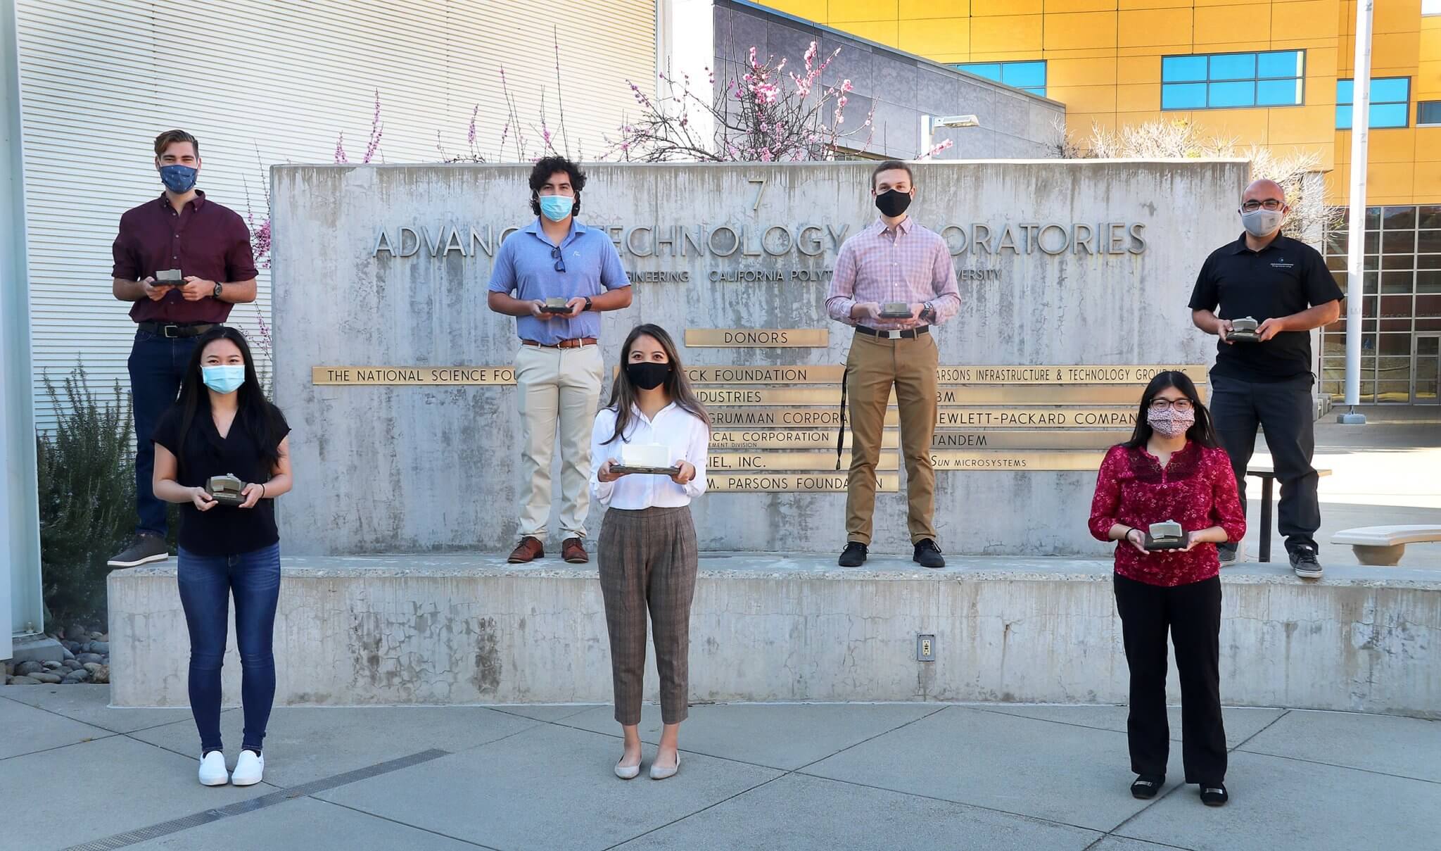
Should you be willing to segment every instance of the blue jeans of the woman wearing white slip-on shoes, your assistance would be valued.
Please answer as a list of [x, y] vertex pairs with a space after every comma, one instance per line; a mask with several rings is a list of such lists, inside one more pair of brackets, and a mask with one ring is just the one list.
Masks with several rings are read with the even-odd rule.
[[259, 753], [275, 702], [275, 603], [280, 600], [280, 544], [239, 555], [196, 555], [180, 548], [180, 604], [190, 630], [190, 711], [200, 751], [220, 747], [220, 666], [235, 594], [235, 643], [241, 651], [242, 749]]

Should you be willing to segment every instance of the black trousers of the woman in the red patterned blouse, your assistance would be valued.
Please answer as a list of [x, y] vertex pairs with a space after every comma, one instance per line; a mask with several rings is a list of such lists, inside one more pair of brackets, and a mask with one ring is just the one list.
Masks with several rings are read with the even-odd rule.
[[1170, 757], [1166, 720], [1166, 630], [1180, 675], [1182, 763], [1187, 783], [1226, 779], [1226, 728], [1221, 723], [1221, 577], [1189, 586], [1151, 586], [1115, 577], [1131, 714], [1125, 734], [1131, 770], [1164, 775]]

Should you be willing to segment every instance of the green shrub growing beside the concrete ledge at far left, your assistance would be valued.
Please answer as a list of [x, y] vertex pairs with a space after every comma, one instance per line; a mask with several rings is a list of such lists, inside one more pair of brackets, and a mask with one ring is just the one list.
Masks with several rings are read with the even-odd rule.
[[130, 394], [99, 401], [76, 366], [61, 388], [45, 375], [58, 420], [36, 434], [40, 565], [52, 617], [104, 622], [105, 560], [135, 524], [135, 456]]

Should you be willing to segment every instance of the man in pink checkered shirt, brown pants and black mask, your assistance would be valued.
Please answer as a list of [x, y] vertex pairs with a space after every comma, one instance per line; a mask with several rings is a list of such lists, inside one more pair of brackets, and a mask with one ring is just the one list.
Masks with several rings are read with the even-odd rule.
[[[915, 199], [911, 167], [896, 160], [876, 166], [870, 195], [880, 219], [840, 247], [826, 294], [830, 317], [856, 329], [846, 356], [852, 449], [846, 548], [839, 564], [859, 567], [866, 561], [876, 506], [876, 462], [895, 387], [914, 558], [925, 567], [945, 567], [932, 524], [931, 441], [940, 353], [929, 330], [955, 316], [961, 296], [945, 239], [906, 216]], [[888, 304], [901, 310], [886, 310]]]

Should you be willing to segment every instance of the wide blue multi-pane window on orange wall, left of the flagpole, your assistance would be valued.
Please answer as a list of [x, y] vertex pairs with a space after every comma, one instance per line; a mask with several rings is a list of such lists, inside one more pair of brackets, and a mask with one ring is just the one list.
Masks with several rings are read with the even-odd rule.
[[1161, 110], [1298, 107], [1304, 85], [1304, 50], [1161, 58]]

